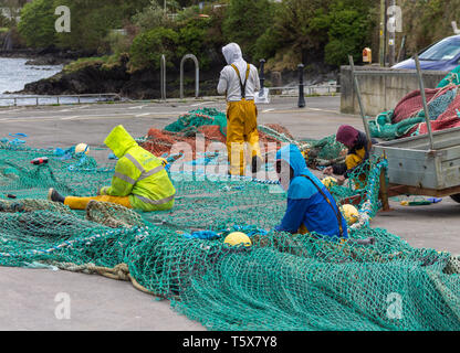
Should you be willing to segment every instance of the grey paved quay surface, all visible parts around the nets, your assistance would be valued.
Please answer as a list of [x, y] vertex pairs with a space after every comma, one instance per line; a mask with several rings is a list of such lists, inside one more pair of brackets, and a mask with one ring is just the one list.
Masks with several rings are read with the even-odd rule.
[[[259, 122], [284, 125], [296, 138], [322, 138], [336, 132], [341, 124], [363, 129], [357, 116], [338, 111], [339, 97], [313, 97], [299, 109], [295, 98], [274, 98], [260, 105]], [[81, 105], [0, 109], [0, 138], [8, 133], [29, 135], [31, 147], [70, 147], [79, 142], [102, 146], [118, 124], [135, 137], [150, 127], [163, 128], [178, 116], [199, 107], [224, 110], [224, 103], [203, 100]], [[416, 247], [431, 247], [460, 254], [458, 229], [460, 204], [446, 199], [431, 206], [404, 207], [380, 213], [373, 226], [389, 229]], [[59, 320], [54, 301], [69, 293], [72, 314]], [[203, 330], [197, 322], [178, 315], [167, 301], [155, 301], [126, 282], [97, 276], [52, 270], [0, 268], [0, 330]], [[59, 297], [58, 297], [59, 299]]]

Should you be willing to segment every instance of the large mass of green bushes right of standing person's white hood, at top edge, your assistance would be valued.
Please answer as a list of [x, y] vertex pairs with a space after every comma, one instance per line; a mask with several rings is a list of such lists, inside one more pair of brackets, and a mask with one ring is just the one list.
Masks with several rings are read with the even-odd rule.
[[338, 66], [347, 55], [360, 57], [369, 46], [376, 1], [285, 0], [275, 8], [273, 25], [255, 42], [255, 58], [271, 58], [268, 67], [295, 69], [318, 60]]

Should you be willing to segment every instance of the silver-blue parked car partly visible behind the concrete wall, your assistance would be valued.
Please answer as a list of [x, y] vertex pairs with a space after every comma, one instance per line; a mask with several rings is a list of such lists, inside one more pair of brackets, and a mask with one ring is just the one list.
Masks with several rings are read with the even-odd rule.
[[[448, 36], [418, 54], [421, 69], [450, 72], [460, 65], [460, 35]], [[416, 68], [414, 58], [405, 60], [391, 68]]]

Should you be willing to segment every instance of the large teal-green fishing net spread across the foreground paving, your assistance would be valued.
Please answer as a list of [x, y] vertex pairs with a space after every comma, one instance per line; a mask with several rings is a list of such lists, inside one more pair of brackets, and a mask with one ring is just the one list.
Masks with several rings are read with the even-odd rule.
[[[39, 157], [49, 162], [30, 163]], [[353, 200], [360, 213], [352, 240], [336, 242], [273, 231], [286, 194], [271, 174], [170, 173], [177, 194], [167, 212], [48, 202], [49, 188], [86, 196], [109, 184], [112, 162], [82, 158], [0, 145], [1, 266], [128, 280], [210, 330], [460, 329], [459, 259], [369, 225], [385, 160], [372, 158], [347, 185], [330, 185], [337, 203]], [[236, 231], [251, 246], [226, 244]]]

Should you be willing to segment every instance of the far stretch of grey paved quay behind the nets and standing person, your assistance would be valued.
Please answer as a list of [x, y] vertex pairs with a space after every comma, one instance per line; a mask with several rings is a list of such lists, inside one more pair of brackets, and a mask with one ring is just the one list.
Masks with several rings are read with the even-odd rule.
[[[307, 105], [299, 109], [294, 98], [273, 98], [270, 105], [259, 106], [259, 122], [282, 124], [299, 138], [334, 133], [341, 122], [360, 126], [357, 117], [338, 113], [339, 97], [307, 98]], [[4, 132], [28, 133], [30, 146], [67, 147], [80, 141], [79, 138], [92, 146], [101, 146], [115, 125], [123, 124], [133, 136], [140, 137], [150, 127], [163, 128], [180, 115], [202, 107], [224, 110], [226, 104], [213, 98], [165, 104], [3, 108], [0, 109], [0, 126]], [[323, 119], [327, 119], [327, 124], [317, 124]]]

